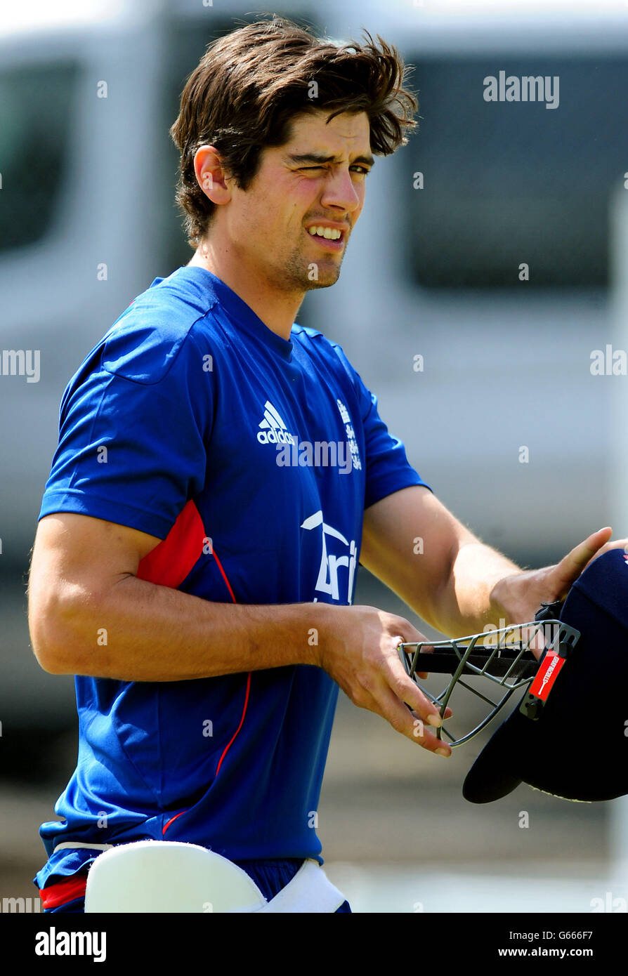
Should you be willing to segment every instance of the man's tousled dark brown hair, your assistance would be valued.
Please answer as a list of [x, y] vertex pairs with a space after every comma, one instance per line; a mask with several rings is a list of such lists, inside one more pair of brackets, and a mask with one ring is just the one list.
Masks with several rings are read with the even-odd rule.
[[[234, 182], [246, 189], [266, 146], [290, 139], [293, 116], [320, 108], [330, 118], [366, 112], [371, 151], [390, 155], [416, 125], [414, 94], [404, 89], [409, 69], [379, 35], [342, 47], [316, 38], [293, 20], [256, 20], [213, 41], [192, 71], [170, 135], [181, 152], [177, 203], [186, 215], [188, 243], [196, 247], [216, 205], [194, 173], [194, 154], [214, 145]], [[315, 82], [315, 86], [314, 83]], [[315, 98], [312, 97], [315, 93]], [[329, 120], [327, 120], [329, 121]]]

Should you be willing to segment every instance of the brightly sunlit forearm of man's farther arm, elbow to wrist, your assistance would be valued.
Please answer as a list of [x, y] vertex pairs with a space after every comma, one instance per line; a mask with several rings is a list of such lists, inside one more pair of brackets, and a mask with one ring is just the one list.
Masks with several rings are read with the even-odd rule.
[[480, 633], [489, 624], [505, 627], [515, 623], [510, 607], [498, 598], [498, 584], [522, 572], [516, 563], [480, 541], [461, 545], [435, 601], [434, 626], [442, 633], [459, 637]]

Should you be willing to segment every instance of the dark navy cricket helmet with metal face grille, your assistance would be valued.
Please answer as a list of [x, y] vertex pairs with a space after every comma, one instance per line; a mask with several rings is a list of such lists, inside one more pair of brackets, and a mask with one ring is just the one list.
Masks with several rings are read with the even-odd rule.
[[[499, 799], [522, 782], [571, 800], [628, 793], [628, 556], [622, 549], [594, 559], [565, 601], [543, 604], [534, 621], [401, 644], [399, 653], [441, 715], [459, 687], [483, 702], [481, 720], [470, 731], [454, 733], [453, 719], [438, 730], [452, 747], [473, 739], [523, 691], [467, 774], [463, 795], [469, 801]], [[451, 679], [435, 695], [419, 683], [420, 671]]]

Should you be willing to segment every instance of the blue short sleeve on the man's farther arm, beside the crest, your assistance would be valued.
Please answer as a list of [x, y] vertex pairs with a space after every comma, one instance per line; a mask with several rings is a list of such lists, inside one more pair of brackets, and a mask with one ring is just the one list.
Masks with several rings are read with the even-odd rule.
[[424, 485], [432, 491], [408, 462], [403, 443], [390, 433], [381, 419], [376, 395], [364, 385], [342, 348], [335, 344], [334, 347], [352, 379], [359, 403], [366, 455], [364, 508], [411, 485]]

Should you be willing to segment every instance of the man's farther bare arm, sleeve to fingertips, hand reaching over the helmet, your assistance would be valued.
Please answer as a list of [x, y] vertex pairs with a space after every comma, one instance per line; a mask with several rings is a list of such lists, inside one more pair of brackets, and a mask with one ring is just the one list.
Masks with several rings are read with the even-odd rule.
[[500, 620], [533, 620], [541, 602], [565, 597], [592, 558], [624, 546], [625, 540], [608, 544], [610, 535], [601, 529], [556, 566], [523, 570], [416, 485], [366, 509], [360, 562], [428, 624], [459, 637], [499, 627]]

